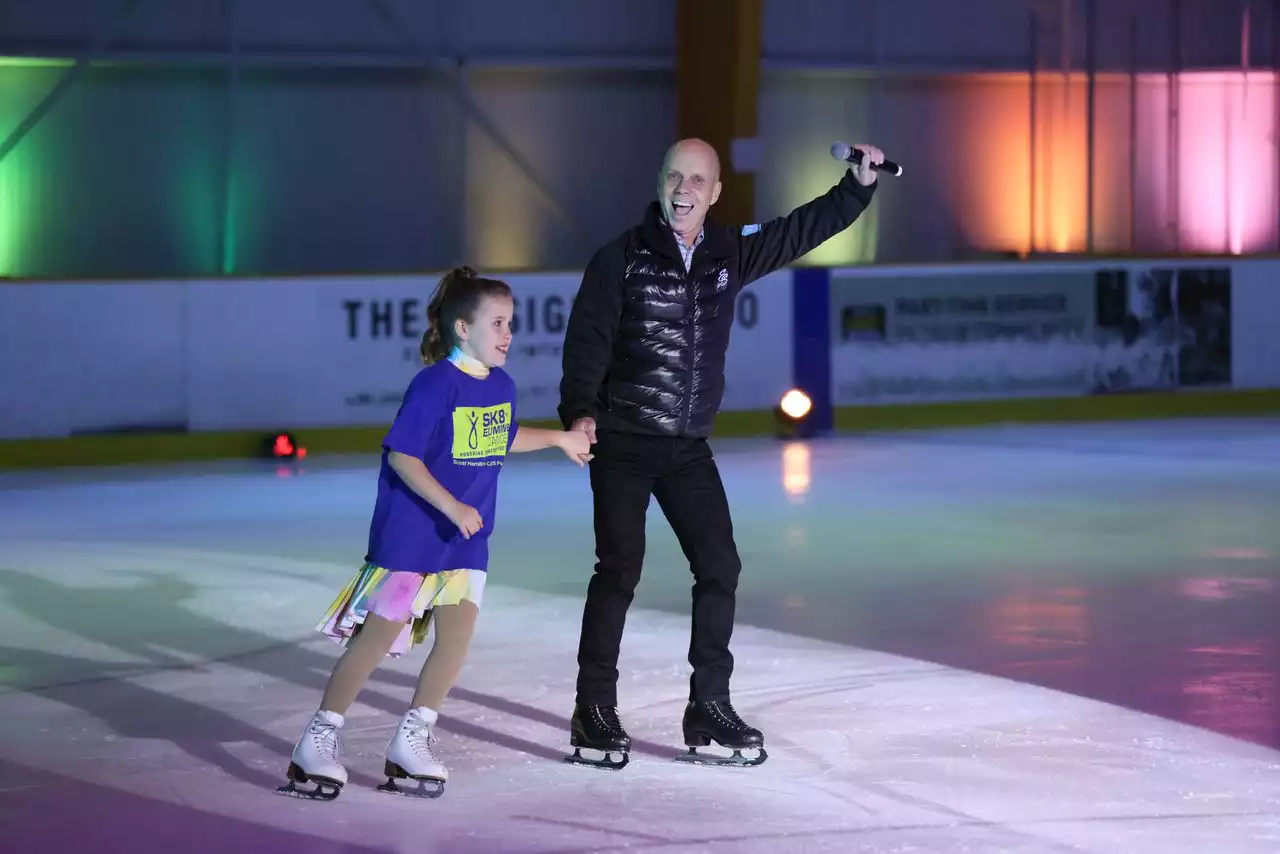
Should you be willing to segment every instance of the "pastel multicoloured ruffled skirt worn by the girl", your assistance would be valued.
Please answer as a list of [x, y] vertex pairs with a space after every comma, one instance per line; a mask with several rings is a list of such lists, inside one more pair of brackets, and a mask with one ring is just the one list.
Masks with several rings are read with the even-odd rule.
[[431, 608], [458, 604], [463, 599], [474, 602], [479, 608], [484, 599], [486, 575], [483, 570], [392, 572], [365, 563], [329, 606], [316, 629], [347, 645], [360, 634], [365, 617], [371, 613], [403, 622], [404, 629], [389, 653], [393, 658], [399, 658], [426, 640]]

